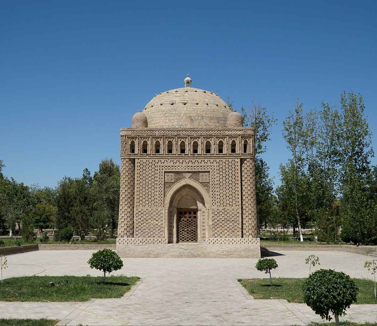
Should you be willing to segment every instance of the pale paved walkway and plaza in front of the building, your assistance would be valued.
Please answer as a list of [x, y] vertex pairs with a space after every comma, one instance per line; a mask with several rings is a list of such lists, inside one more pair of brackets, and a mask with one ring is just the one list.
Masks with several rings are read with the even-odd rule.
[[[8, 257], [5, 277], [21, 275], [101, 275], [90, 269], [92, 251], [34, 251]], [[308, 251], [275, 256], [273, 277], [306, 277]], [[371, 279], [363, 268], [371, 257], [317, 251], [321, 268]], [[124, 259], [114, 274], [142, 280], [120, 299], [84, 303], [0, 302], [3, 318], [57, 318], [58, 325], [305, 325], [322, 321], [305, 304], [286, 300], [254, 300], [238, 278], [265, 277], [257, 259]], [[372, 289], [371, 289], [372, 291]], [[352, 305], [343, 320], [377, 322], [376, 305]]]

